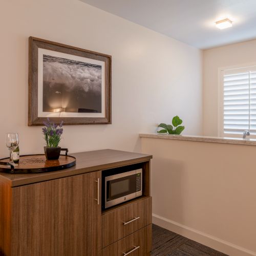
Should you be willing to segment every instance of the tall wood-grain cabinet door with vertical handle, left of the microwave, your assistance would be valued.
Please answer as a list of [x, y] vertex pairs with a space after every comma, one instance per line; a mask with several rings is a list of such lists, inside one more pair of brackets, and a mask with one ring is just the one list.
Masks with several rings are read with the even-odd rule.
[[97, 255], [100, 175], [93, 172], [12, 188], [11, 254]]

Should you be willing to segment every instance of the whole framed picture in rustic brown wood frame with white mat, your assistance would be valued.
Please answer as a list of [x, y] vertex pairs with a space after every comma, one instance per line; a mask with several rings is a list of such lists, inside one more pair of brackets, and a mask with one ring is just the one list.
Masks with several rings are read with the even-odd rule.
[[111, 56], [29, 37], [28, 124], [111, 124]]

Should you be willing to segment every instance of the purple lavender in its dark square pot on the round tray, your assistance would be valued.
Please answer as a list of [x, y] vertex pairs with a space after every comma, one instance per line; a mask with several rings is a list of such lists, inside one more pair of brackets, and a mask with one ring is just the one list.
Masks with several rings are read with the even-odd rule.
[[42, 128], [42, 133], [44, 134], [44, 138], [46, 140], [46, 146], [44, 147], [46, 159], [59, 159], [61, 148], [58, 145], [61, 140], [61, 134], [63, 133], [63, 121], [57, 125], [54, 122], [51, 122], [48, 118], [47, 122], [44, 122], [44, 124], [45, 127]]

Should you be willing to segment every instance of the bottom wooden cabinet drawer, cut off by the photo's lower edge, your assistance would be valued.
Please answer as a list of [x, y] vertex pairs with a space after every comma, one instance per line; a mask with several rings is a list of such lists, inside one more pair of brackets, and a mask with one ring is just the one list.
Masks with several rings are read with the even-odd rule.
[[150, 255], [152, 246], [152, 224], [130, 234], [102, 249], [104, 256], [143, 256]]

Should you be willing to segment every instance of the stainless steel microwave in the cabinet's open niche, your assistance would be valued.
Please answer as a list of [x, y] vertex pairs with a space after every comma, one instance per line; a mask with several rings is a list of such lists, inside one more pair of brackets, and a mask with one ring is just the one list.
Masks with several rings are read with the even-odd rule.
[[142, 196], [142, 168], [102, 177], [102, 192], [106, 209]]

